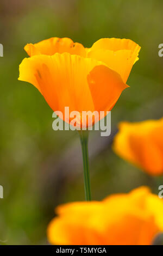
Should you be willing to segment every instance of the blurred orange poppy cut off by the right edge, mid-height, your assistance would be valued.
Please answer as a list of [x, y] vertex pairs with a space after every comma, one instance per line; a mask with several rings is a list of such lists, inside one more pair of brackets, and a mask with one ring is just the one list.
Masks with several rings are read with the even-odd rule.
[[151, 175], [163, 174], [163, 118], [122, 122], [119, 129], [114, 138], [115, 153]]

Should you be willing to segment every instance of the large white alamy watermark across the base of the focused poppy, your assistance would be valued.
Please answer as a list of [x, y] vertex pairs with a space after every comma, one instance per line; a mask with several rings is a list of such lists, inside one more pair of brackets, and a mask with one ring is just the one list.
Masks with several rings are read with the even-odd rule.
[[[54, 131], [62, 130], [95, 130], [101, 131], [101, 136], [111, 133], [111, 111], [69, 111], [65, 107], [64, 113], [55, 111], [52, 127]], [[63, 121], [65, 120], [65, 121]]]

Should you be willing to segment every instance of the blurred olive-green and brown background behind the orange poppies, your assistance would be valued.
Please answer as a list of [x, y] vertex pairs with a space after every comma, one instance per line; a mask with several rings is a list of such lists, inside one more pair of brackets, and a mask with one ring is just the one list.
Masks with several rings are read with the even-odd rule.
[[162, 0], [1, 0], [0, 43], [0, 240], [9, 245], [47, 244], [56, 205], [84, 200], [82, 153], [77, 132], [53, 131], [52, 109], [30, 84], [17, 81], [27, 43], [69, 37], [90, 47], [100, 38], [129, 38], [142, 48], [129, 89], [111, 114], [111, 136], [90, 135], [92, 198], [129, 192], [156, 181], [111, 150], [122, 120], [162, 117]]

